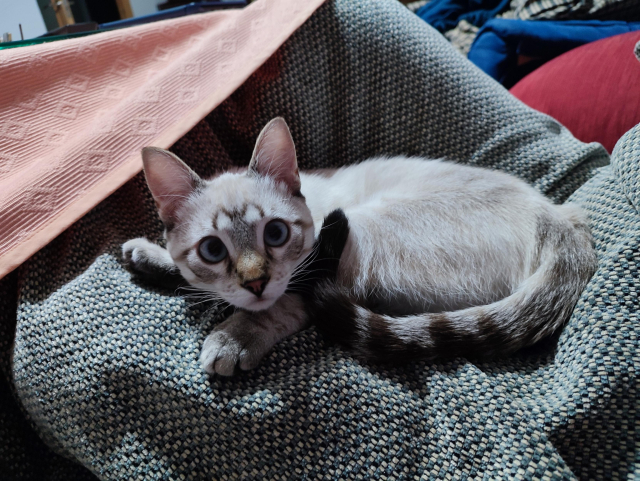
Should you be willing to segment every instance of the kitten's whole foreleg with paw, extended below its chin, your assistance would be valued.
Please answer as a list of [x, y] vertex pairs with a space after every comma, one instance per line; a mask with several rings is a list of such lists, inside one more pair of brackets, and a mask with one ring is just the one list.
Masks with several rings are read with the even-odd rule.
[[205, 339], [200, 364], [209, 374], [253, 369], [271, 348], [307, 326], [302, 298], [285, 294], [266, 311], [236, 311]]

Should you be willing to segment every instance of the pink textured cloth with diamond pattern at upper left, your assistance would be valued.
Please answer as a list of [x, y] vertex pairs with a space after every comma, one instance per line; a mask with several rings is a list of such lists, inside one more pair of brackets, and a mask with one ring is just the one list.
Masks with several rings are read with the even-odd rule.
[[169, 147], [323, 0], [226, 10], [0, 51], [0, 277]]

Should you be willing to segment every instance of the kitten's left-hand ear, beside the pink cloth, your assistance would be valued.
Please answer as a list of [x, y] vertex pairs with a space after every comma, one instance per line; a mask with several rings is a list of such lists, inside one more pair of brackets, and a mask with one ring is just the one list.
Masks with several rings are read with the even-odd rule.
[[142, 163], [160, 219], [170, 226], [177, 220], [175, 214], [180, 205], [203, 181], [177, 156], [157, 147], [142, 149]]

